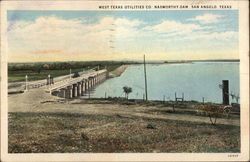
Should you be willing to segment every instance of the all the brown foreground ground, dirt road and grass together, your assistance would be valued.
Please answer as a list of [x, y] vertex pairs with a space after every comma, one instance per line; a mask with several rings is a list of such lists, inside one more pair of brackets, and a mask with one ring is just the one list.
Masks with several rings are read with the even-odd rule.
[[[195, 105], [195, 104], [194, 104]], [[239, 117], [140, 102], [8, 96], [9, 152], [239, 152]]]

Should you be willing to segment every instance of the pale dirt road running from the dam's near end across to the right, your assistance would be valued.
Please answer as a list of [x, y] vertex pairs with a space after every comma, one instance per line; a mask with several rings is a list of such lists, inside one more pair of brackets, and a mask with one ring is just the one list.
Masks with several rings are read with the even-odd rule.
[[[122, 105], [106, 100], [66, 100], [50, 95], [45, 89], [31, 89], [22, 94], [8, 96], [9, 112], [63, 112], [79, 114], [121, 115], [150, 119], [166, 119], [210, 123], [208, 117], [192, 114], [163, 113], [171, 107], [146, 105]], [[219, 118], [218, 124], [239, 126], [239, 119]]]

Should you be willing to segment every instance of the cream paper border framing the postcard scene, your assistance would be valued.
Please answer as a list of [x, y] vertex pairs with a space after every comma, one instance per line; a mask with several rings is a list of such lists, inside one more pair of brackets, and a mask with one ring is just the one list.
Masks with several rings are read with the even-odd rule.
[[[7, 10], [98, 10], [98, 4], [183, 4], [197, 1], [2, 1], [1, 2], [1, 160], [2, 161], [247, 161], [249, 160], [249, 21], [248, 1], [203, 1], [239, 10], [241, 153], [7, 153]], [[238, 157], [228, 157], [238, 155]]]

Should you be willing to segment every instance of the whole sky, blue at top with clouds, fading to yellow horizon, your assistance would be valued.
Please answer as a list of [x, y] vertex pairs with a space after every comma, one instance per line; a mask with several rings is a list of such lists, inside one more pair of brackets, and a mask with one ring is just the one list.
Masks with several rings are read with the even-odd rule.
[[7, 12], [8, 61], [238, 59], [237, 10]]

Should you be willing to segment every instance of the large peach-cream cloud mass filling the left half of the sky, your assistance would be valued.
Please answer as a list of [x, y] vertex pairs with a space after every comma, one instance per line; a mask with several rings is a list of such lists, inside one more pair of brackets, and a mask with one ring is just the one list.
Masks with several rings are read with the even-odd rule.
[[24, 51], [32, 55], [104, 55], [114, 51], [110, 48], [113, 46], [110, 40], [126, 41], [134, 37], [141, 24], [143, 22], [137, 19], [112, 16], [103, 17], [92, 24], [85, 23], [84, 19], [43, 16], [35, 21], [10, 21], [8, 41], [10, 51]]

